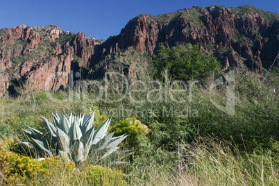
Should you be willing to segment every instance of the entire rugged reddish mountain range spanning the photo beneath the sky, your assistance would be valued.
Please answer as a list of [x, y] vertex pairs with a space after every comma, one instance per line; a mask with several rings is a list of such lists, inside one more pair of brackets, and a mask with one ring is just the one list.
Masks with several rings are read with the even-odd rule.
[[[105, 42], [83, 33], [64, 32], [53, 25], [3, 28], [0, 96], [8, 95], [7, 90], [19, 82], [35, 91], [56, 91], [67, 87], [71, 71], [80, 69], [85, 79], [112, 69], [135, 77], [137, 64], [149, 67], [150, 56], [160, 42], [169, 47], [199, 44], [206, 53], [217, 56], [222, 69], [243, 62], [262, 73], [279, 51], [278, 35], [279, 15], [253, 6], [193, 7], [157, 17], [140, 15]], [[130, 62], [127, 56], [131, 53], [137, 60]], [[143, 58], [144, 53], [149, 57]]]

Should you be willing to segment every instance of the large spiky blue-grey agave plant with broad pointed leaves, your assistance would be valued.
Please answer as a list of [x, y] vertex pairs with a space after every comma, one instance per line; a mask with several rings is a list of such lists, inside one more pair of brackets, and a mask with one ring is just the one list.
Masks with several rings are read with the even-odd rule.
[[67, 161], [83, 162], [90, 160], [93, 164], [119, 164], [122, 158], [131, 154], [130, 151], [119, 151], [118, 144], [127, 135], [112, 137], [113, 133], [106, 135], [110, 119], [107, 119], [99, 128], [94, 127], [94, 112], [90, 117], [86, 114], [76, 115], [72, 110], [70, 117], [63, 112], [60, 115], [52, 113], [53, 124], [42, 117], [47, 134], [41, 133], [35, 128], [24, 130], [24, 133], [34, 142], [28, 146], [35, 146], [53, 157], [60, 155]]

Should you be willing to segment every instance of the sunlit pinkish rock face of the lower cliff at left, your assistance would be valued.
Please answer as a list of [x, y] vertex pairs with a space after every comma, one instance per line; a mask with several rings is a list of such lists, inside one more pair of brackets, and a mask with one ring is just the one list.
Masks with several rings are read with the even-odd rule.
[[0, 41], [0, 96], [14, 86], [10, 81], [22, 82], [35, 92], [67, 87], [69, 73], [78, 70], [73, 62], [89, 67], [94, 47], [101, 43], [53, 25], [4, 28]]

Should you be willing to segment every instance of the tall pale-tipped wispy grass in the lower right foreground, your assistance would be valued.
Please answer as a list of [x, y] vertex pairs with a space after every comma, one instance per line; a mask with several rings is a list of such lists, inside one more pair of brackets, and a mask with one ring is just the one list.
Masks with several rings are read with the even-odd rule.
[[[133, 172], [138, 185], [278, 185], [278, 165], [270, 154], [249, 154], [216, 137], [197, 137], [180, 144], [176, 168], [151, 164], [149, 171]], [[143, 180], [139, 179], [140, 174]]]

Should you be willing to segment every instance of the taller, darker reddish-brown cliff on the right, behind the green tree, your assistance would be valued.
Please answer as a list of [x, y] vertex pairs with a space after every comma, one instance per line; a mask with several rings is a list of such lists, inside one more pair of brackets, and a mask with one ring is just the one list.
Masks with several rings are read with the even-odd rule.
[[[273, 59], [278, 53], [279, 17], [274, 14], [277, 22], [273, 22], [255, 13], [258, 9], [252, 6], [248, 6], [248, 12], [239, 13], [240, 10], [210, 6], [193, 7], [158, 17], [140, 15], [128, 22], [115, 39], [105, 42], [99, 52], [101, 56], [108, 56], [115, 52], [112, 49], [117, 45], [119, 49], [134, 47], [139, 52], [153, 55], [159, 42], [169, 47], [191, 42], [200, 44], [214, 56], [223, 51], [219, 58], [223, 61], [223, 69], [248, 60], [249, 67], [262, 72], [262, 60], [271, 60], [267, 53], [273, 53]], [[272, 44], [270, 40], [273, 40]], [[270, 51], [267, 47], [273, 49]], [[233, 52], [226, 52], [229, 50]]]

